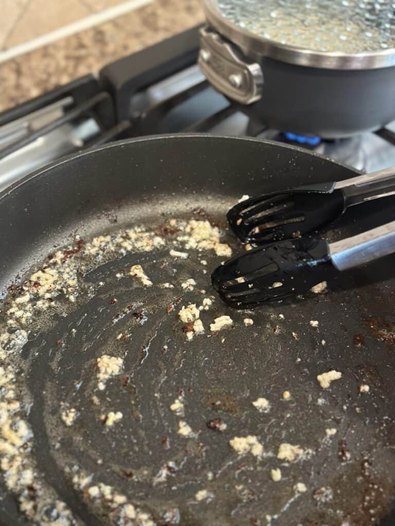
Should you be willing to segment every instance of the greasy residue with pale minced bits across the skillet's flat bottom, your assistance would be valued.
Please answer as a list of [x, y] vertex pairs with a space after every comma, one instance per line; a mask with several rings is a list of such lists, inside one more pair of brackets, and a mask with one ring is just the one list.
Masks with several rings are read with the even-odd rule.
[[358, 289], [337, 292], [339, 309], [327, 284], [297, 306], [231, 311], [210, 269], [235, 250], [206, 219], [169, 218], [77, 237], [9, 289], [0, 467], [27, 522], [364, 526], [388, 513], [389, 320], [361, 319]]

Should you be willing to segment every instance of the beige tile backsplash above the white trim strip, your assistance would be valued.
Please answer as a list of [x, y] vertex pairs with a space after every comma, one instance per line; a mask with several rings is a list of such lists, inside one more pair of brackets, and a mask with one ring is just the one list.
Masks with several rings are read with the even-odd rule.
[[0, 0], [0, 51], [122, 2], [124, 0]]

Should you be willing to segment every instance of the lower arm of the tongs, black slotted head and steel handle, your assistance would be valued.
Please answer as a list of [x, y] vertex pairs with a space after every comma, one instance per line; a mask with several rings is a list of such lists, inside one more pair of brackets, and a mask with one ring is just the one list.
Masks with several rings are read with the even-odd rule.
[[339, 271], [392, 252], [395, 221], [331, 244], [299, 238], [261, 246], [226, 261], [211, 278], [226, 304], [251, 308], [304, 294]]

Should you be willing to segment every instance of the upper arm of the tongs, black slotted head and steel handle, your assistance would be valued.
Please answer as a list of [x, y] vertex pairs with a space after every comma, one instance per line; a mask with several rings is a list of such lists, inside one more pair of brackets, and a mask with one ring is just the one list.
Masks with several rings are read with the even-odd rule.
[[319, 230], [350, 206], [393, 194], [395, 167], [252, 197], [231, 208], [227, 217], [242, 242], [262, 245]]

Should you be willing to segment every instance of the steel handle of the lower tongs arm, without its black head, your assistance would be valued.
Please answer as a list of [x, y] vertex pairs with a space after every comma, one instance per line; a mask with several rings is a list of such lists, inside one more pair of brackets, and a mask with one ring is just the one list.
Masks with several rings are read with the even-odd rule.
[[358, 267], [393, 252], [395, 221], [329, 245], [332, 263], [338, 270]]

